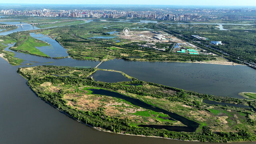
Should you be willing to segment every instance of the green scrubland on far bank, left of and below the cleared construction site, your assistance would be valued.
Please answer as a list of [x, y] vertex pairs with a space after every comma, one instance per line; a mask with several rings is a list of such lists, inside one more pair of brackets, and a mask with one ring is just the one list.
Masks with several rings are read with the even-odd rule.
[[[141, 49], [132, 46], [130, 40], [119, 38], [116, 34], [109, 34], [111, 31], [122, 31], [123, 27], [137, 28], [154, 26], [154, 24], [138, 24], [124, 22], [98, 22], [93, 21], [85, 24], [66, 26], [65, 28], [49, 28], [36, 30], [37, 33], [47, 34], [56, 38], [68, 54], [79, 60], [109, 60], [122, 58], [125, 60], [137, 61], [205, 61], [216, 60], [216, 56], [191, 56], [189, 54], [176, 54], [160, 52], [157, 50]], [[135, 29], [136, 30], [136, 29]], [[140, 30], [140, 29], [138, 29]], [[92, 38], [97, 36], [115, 36], [115, 38], [102, 39]], [[120, 40], [120, 42], [116, 42]], [[164, 47], [166, 44], [157, 44]], [[171, 45], [170, 45], [171, 47]]]

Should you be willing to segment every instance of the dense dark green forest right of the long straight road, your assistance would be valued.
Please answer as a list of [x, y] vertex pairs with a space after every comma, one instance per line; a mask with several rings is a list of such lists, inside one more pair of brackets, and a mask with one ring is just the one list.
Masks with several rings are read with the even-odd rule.
[[[163, 27], [162, 24], [159, 26]], [[255, 30], [210, 30], [210, 31], [169, 31], [171, 34], [179, 34], [178, 38], [182, 40], [192, 42], [194, 45], [199, 46], [210, 52], [222, 55], [230, 61], [240, 63], [237, 59], [242, 61], [256, 63], [256, 44], [255, 44]], [[192, 38], [191, 35], [199, 35], [208, 38], [208, 40], [198, 40]], [[196, 42], [199, 41], [199, 42]], [[224, 45], [212, 45], [210, 41], [222, 41]], [[209, 48], [209, 45], [214, 48]], [[222, 52], [220, 52], [222, 51]]]

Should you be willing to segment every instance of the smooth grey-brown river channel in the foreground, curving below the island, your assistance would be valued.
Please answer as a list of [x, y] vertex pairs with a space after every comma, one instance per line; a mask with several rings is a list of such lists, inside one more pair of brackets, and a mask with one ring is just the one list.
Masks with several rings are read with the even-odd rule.
[[100, 132], [36, 97], [26, 80], [16, 72], [16, 67], [3, 59], [0, 59], [0, 66], [1, 144], [212, 144]]

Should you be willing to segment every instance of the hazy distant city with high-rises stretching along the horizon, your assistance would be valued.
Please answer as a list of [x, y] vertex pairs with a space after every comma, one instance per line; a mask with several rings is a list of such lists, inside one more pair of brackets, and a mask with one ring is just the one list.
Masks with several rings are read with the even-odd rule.
[[149, 20], [173, 20], [206, 22], [209, 20], [256, 20], [256, 16], [243, 13], [256, 12], [256, 9], [169, 9], [152, 8], [150, 10], [1, 10], [1, 15], [23, 15], [42, 17], [70, 18], [130, 18]]

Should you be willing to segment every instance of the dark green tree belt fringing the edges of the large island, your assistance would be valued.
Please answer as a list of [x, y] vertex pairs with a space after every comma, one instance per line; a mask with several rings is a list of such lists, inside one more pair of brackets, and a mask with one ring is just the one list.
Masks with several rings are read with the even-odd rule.
[[[94, 111], [83, 111], [73, 108], [67, 105], [67, 101], [63, 99], [64, 94], [70, 93], [69, 91], [59, 90], [58, 92], [44, 92], [38, 89], [44, 82], [52, 82], [53, 84], [65, 84], [66, 86], [78, 86], [80, 84], [92, 87], [106, 88], [109, 90], [125, 90], [126, 92], [139, 94], [142, 96], [152, 96], [156, 98], [168, 98], [170, 101], [189, 101], [188, 95], [198, 95], [202, 98], [216, 98], [215, 96], [208, 96], [207, 94], [199, 94], [196, 92], [187, 92], [182, 89], [172, 88], [161, 84], [154, 84], [151, 82], [144, 82], [134, 79], [129, 82], [118, 82], [118, 83], [106, 83], [106, 82], [95, 82], [91, 78], [88, 78], [88, 74], [95, 71], [94, 68], [69, 68], [69, 67], [58, 67], [58, 66], [38, 66], [34, 67], [34, 70], [44, 77], [34, 76], [33, 72], [24, 73], [21, 72], [22, 68], [19, 68], [18, 72], [24, 77], [28, 78], [28, 85], [32, 90], [43, 100], [52, 104], [65, 114], [74, 118], [84, 124], [88, 124], [93, 127], [104, 128], [112, 132], [121, 132], [126, 134], [136, 134], [145, 136], [161, 136], [180, 140], [200, 140], [202, 142], [228, 142], [228, 141], [246, 141], [256, 140], [254, 134], [250, 134], [245, 130], [238, 130], [237, 133], [233, 132], [219, 132], [213, 134], [209, 127], [204, 126], [202, 128], [202, 134], [196, 132], [172, 132], [164, 129], [154, 128], [142, 128], [136, 126], [130, 126], [130, 120], [127, 118], [120, 119], [118, 117], [110, 117], [104, 114], [104, 108], [98, 108]], [[79, 70], [79, 72], [77, 71]], [[70, 73], [70, 71], [74, 71]], [[52, 74], [69, 74], [70, 76], [52, 76]], [[78, 76], [84, 74], [84, 76]], [[140, 84], [142, 86], [133, 86], [128, 84]], [[151, 88], [145, 88], [144, 85], [153, 86]], [[163, 92], [166, 90], [173, 91], [174, 93]], [[218, 98], [218, 97], [217, 97]], [[225, 100], [225, 98], [222, 98]], [[228, 99], [228, 98], [226, 98]], [[235, 99], [234, 99], [235, 100]], [[192, 102], [198, 105], [198, 102]], [[200, 104], [200, 103], [199, 103]]]

